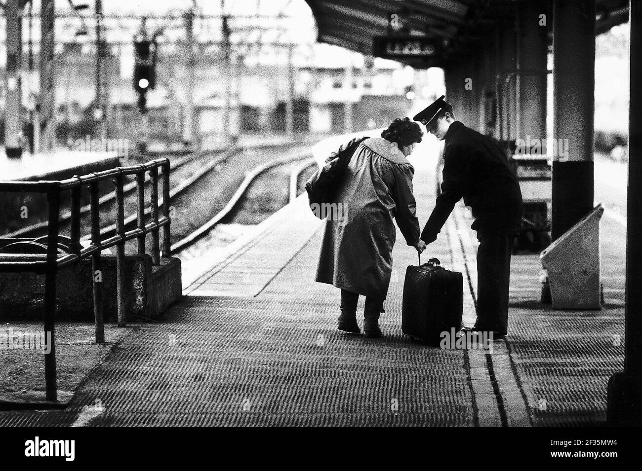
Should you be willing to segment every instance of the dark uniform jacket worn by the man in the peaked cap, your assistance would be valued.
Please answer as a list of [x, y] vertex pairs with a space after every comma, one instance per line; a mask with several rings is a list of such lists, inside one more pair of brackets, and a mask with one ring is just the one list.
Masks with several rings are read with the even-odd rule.
[[441, 194], [421, 239], [430, 243], [462, 197], [473, 211], [471, 226], [478, 238], [485, 235], [517, 235], [522, 199], [514, 170], [498, 145], [486, 136], [453, 122], [446, 133]]

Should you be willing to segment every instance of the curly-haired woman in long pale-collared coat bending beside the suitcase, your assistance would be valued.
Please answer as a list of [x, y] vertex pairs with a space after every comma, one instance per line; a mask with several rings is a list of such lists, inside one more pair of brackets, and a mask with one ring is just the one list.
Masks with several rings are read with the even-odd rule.
[[419, 124], [395, 119], [380, 138], [368, 138], [356, 148], [338, 189], [334, 202], [342, 208], [336, 211], [341, 217], [327, 218], [315, 281], [341, 289], [342, 331], [360, 333], [356, 308], [361, 294], [363, 331], [368, 337], [381, 336], [379, 313], [390, 285], [397, 235], [392, 220], [408, 245], [420, 253], [426, 247], [415, 216], [414, 169], [406, 159], [422, 134]]

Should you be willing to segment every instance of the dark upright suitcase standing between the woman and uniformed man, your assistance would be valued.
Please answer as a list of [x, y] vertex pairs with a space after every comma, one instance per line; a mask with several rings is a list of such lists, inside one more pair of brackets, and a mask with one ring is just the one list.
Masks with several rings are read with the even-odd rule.
[[[462, 328], [464, 277], [440, 266], [437, 258], [406, 269], [403, 286], [401, 331], [434, 347]], [[448, 344], [451, 344], [450, 337]], [[453, 339], [452, 342], [455, 342]]]

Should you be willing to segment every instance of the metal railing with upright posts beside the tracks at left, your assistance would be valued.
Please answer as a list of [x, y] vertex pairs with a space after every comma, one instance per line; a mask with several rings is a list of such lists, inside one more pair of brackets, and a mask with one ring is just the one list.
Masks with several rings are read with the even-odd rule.
[[[159, 169], [162, 172], [162, 206], [159, 206]], [[170, 224], [169, 218], [169, 159], [159, 158], [133, 165], [131, 167], [116, 167], [115, 169], [94, 172], [84, 176], [73, 176], [60, 181], [0, 181], [0, 192], [35, 192], [47, 195], [47, 253], [46, 254], [0, 254], [0, 272], [35, 272], [45, 275], [44, 294], [44, 331], [51, 333], [51, 349], [45, 356], [46, 399], [57, 400], [56, 354], [55, 354], [55, 318], [56, 318], [56, 275], [58, 270], [91, 258], [92, 264], [92, 293], [94, 301], [94, 320], [96, 343], [105, 342], [105, 326], [102, 312], [101, 287], [101, 252], [110, 247], [116, 247], [116, 292], [118, 326], [126, 326], [125, 321], [125, 243], [137, 239], [137, 251], [145, 254], [145, 237], [152, 234], [152, 263], [160, 264], [160, 257], [169, 257]], [[150, 173], [152, 191], [150, 198], [152, 221], [145, 224], [146, 213], [144, 197], [145, 173]], [[135, 229], [125, 231], [124, 191], [125, 176], [134, 175], [137, 188], [137, 219]], [[101, 181], [112, 180], [116, 186], [116, 235], [100, 239], [100, 208], [98, 184]], [[89, 188], [91, 208], [91, 244], [88, 247], [80, 245], [80, 208], [83, 186]], [[60, 218], [61, 194], [71, 192], [71, 228], [69, 254], [58, 254], [58, 222]], [[162, 215], [159, 215], [159, 210]], [[163, 229], [162, 252], [160, 247], [160, 229]]]

